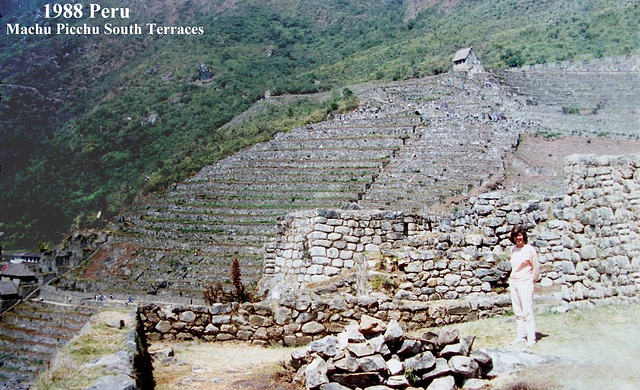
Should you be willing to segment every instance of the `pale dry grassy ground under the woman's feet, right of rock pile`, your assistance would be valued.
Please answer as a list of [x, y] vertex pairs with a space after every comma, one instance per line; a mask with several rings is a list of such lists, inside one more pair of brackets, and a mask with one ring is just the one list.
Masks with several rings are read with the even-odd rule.
[[[526, 383], [530, 389], [640, 388], [640, 306], [608, 306], [536, 318], [543, 336], [532, 352], [564, 363], [532, 367], [497, 378], [495, 389]], [[499, 317], [456, 326], [477, 335], [474, 348], [513, 348], [515, 322]]]

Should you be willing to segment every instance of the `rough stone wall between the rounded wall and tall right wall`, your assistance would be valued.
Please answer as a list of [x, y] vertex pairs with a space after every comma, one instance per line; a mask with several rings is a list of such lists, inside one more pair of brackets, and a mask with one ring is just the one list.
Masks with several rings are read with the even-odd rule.
[[[552, 199], [514, 201], [500, 192], [470, 200], [471, 208], [450, 219], [440, 219], [437, 229], [408, 237], [403, 245], [382, 245], [384, 267], [402, 272], [394, 298], [431, 301], [492, 294], [506, 287], [511, 270], [508, 239], [514, 226], [529, 229], [548, 219]], [[560, 236], [540, 231], [531, 235], [544, 265], [544, 285], [562, 282], [554, 272], [554, 252]]]

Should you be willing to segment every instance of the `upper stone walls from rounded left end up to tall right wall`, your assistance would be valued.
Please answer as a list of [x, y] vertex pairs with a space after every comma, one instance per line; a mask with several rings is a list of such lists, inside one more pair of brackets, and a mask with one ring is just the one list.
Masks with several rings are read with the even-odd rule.
[[543, 284], [563, 283], [564, 242], [558, 232], [542, 229], [559, 201], [520, 202], [490, 192], [449, 217], [344, 210], [291, 214], [280, 221], [278, 241], [269, 251], [273, 271], [267, 272], [262, 287], [277, 297], [349, 272], [354, 259], [363, 258], [369, 270], [400, 271], [396, 299], [487, 294], [505, 285], [513, 245], [508, 236], [516, 225], [539, 229], [532, 243], [545, 265]]

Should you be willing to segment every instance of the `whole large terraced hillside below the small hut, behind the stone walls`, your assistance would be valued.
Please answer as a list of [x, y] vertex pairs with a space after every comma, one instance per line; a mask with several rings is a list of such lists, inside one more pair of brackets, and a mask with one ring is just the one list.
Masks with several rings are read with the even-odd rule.
[[[602, 100], [611, 73], [585, 72], [565, 77], [547, 66], [501, 72], [502, 82], [492, 73], [447, 73], [350, 87], [360, 99], [356, 111], [277, 134], [138, 202], [90, 264], [60, 284], [200, 298], [205, 284], [227, 278], [232, 258], [245, 281], [256, 281], [263, 245], [289, 212], [353, 203], [432, 212], [443, 201], [499, 186], [521, 134], [591, 135], [603, 123], [637, 134], [637, 108], [629, 103], [638, 101], [637, 67], [626, 78], [612, 76], [623, 92], [602, 92], [604, 107], [574, 112], [578, 101], [588, 107]], [[585, 74], [599, 80], [595, 87]]]

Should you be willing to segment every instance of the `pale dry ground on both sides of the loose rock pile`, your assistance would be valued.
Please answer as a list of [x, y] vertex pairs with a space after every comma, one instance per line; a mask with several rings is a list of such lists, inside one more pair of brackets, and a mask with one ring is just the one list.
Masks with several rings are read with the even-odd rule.
[[[493, 381], [493, 388], [515, 389], [526, 384], [542, 389], [640, 388], [640, 305], [607, 306], [536, 317], [541, 338], [530, 351], [562, 358], [562, 363], [528, 368]], [[490, 318], [453, 326], [461, 335], [476, 335], [474, 348], [514, 349], [512, 317]], [[421, 333], [421, 332], [417, 332]], [[293, 390], [276, 381], [279, 362], [294, 351], [244, 344], [203, 342], [155, 343], [153, 350], [171, 347], [174, 358], [156, 358], [158, 390]]]

